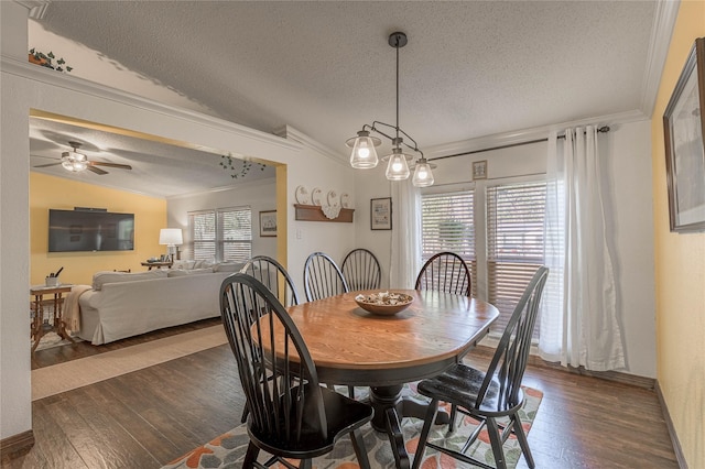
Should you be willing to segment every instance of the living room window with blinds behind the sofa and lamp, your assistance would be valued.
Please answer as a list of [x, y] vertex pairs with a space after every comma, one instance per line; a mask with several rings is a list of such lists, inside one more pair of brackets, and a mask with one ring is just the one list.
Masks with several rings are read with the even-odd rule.
[[252, 210], [218, 208], [188, 214], [194, 260], [245, 262], [252, 255]]

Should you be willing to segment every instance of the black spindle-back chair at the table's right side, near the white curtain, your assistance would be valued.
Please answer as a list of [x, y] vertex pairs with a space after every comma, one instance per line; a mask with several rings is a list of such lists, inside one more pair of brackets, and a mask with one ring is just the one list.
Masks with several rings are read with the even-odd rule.
[[[424, 426], [421, 430], [416, 455], [414, 456], [414, 469], [421, 465], [426, 447], [434, 448], [470, 465], [488, 467], [465, 454], [484, 427], [487, 427], [497, 468], [507, 467], [503, 445], [512, 433], [519, 440], [527, 465], [530, 468], [535, 467], [527, 435], [521, 426], [519, 410], [524, 403], [521, 380], [527, 369], [531, 335], [547, 276], [549, 269], [542, 266], [531, 279], [505, 328], [492, 360], [485, 372], [458, 363], [443, 374], [419, 383], [419, 392], [431, 397], [431, 404], [424, 418]], [[438, 401], [451, 403], [457, 406], [458, 412], [480, 422], [477, 430], [470, 435], [460, 451], [429, 441], [429, 432], [436, 418]], [[497, 423], [500, 417], [509, 417], [509, 422], [501, 426]], [[453, 432], [454, 425], [455, 416], [452, 415], [451, 432]]]

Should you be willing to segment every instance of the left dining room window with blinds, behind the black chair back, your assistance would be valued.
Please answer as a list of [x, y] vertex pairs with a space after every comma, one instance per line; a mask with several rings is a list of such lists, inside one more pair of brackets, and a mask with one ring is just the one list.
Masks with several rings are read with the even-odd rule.
[[452, 251], [470, 269], [471, 294], [477, 295], [477, 260], [475, 257], [475, 222], [473, 192], [463, 190], [421, 196], [421, 259]]

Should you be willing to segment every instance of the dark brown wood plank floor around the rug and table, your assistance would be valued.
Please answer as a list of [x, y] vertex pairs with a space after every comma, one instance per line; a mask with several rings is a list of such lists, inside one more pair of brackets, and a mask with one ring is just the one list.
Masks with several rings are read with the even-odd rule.
[[[202, 321], [110, 346], [134, 345]], [[87, 343], [43, 350], [36, 367], [101, 352]], [[98, 350], [96, 350], [98, 349]], [[486, 367], [482, 353], [469, 360]], [[239, 423], [243, 399], [227, 345], [36, 401], [36, 443], [3, 468], [159, 468]], [[538, 468], [677, 468], [653, 391], [530, 366], [544, 393], [529, 434]], [[519, 468], [525, 468], [523, 458]]]

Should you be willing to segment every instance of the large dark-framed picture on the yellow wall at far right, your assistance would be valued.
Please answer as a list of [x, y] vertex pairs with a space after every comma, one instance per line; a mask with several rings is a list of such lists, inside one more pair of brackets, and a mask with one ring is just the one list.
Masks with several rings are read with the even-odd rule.
[[705, 37], [695, 40], [663, 113], [672, 232], [705, 231]]

